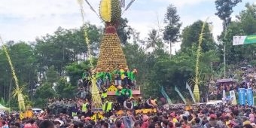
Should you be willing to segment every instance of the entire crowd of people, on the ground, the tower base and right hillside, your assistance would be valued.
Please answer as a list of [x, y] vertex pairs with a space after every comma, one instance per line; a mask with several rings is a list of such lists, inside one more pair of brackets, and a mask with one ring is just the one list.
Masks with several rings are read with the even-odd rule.
[[[239, 87], [254, 87], [256, 77], [251, 76], [256, 76], [255, 71], [254, 68], [242, 70]], [[132, 89], [136, 86], [136, 73], [136, 69], [130, 72], [122, 66], [114, 72], [85, 70], [82, 86], [78, 87], [74, 99], [48, 99], [44, 111], [22, 120], [19, 114], [2, 112], [0, 128], [256, 128], [256, 108], [251, 106], [202, 104], [187, 109], [182, 105], [158, 105], [151, 97], [136, 99]], [[90, 78], [93, 75], [102, 97], [102, 113], [91, 108]], [[235, 79], [236, 75], [230, 77]], [[114, 99], [107, 94], [112, 84], [117, 88]], [[230, 84], [226, 89], [236, 90], [236, 86]], [[157, 111], [136, 112], [142, 108]], [[123, 112], [118, 114], [118, 111]]]

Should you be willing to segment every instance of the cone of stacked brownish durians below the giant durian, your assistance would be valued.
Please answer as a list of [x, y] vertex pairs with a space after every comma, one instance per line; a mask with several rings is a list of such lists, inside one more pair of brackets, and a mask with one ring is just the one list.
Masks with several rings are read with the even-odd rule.
[[126, 67], [126, 58], [114, 26], [107, 26], [99, 49], [97, 68], [113, 71], [118, 66]]

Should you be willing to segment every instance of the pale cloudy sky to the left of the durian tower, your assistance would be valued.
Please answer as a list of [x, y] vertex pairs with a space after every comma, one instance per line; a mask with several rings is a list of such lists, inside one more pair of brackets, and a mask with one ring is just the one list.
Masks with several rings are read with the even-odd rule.
[[[91, 2], [95, 9], [97, 1]], [[85, 4], [84, 10], [85, 20], [100, 24], [99, 18]], [[59, 26], [72, 29], [82, 24], [76, 0], [0, 1], [0, 16], [5, 18], [2, 21], [0, 18], [0, 34], [5, 41], [33, 41], [37, 36], [53, 33]]]

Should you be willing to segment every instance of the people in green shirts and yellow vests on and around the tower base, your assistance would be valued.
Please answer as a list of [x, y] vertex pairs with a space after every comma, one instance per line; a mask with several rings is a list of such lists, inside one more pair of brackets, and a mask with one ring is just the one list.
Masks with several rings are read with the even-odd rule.
[[[47, 102], [47, 111], [49, 114], [64, 113], [69, 116], [81, 114], [86, 117], [93, 116], [93, 111], [101, 110], [105, 117], [110, 117], [116, 111], [125, 110], [135, 112], [142, 108], [157, 108], [156, 100], [142, 99], [133, 97], [132, 87], [136, 86], [136, 69], [130, 72], [128, 68], [123, 69], [119, 66], [113, 73], [106, 69], [86, 69], [82, 75], [83, 83], [78, 87], [78, 93], [75, 99], [49, 99]], [[93, 76], [95, 75], [95, 76]], [[116, 90], [114, 96], [108, 97], [108, 88], [114, 76], [114, 85]], [[99, 88], [99, 94], [102, 98], [102, 108], [92, 108], [90, 87], [91, 78], [96, 77], [96, 84]]]

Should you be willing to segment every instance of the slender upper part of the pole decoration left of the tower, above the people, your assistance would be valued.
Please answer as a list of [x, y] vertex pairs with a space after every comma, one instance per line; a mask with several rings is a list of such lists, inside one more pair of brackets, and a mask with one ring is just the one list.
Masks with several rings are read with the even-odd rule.
[[90, 66], [93, 66], [92, 58], [91, 58], [91, 47], [90, 47], [90, 39], [87, 33], [87, 25], [85, 24], [84, 20], [84, 8], [83, 8], [83, 0], [78, 0], [78, 4], [80, 5], [80, 10], [81, 10], [81, 17], [82, 17], [82, 22], [83, 22], [83, 31], [84, 31], [84, 41], [87, 44], [87, 49], [88, 49], [88, 58], [90, 62]]

